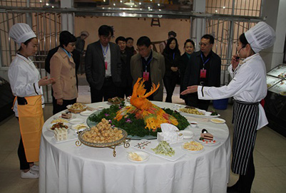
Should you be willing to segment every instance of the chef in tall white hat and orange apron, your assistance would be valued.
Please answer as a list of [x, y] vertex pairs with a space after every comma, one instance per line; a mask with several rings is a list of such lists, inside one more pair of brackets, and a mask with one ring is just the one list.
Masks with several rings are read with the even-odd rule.
[[9, 36], [20, 45], [16, 57], [9, 67], [8, 76], [11, 90], [15, 95], [14, 112], [19, 118], [21, 138], [18, 157], [22, 178], [38, 178], [39, 147], [41, 128], [44, 125], [42, 85], [53, 83], [52, 78], [41, 78], [38, 69], [29, 59], [38, 49], [38, 40], [27, 24], [15, 24]]

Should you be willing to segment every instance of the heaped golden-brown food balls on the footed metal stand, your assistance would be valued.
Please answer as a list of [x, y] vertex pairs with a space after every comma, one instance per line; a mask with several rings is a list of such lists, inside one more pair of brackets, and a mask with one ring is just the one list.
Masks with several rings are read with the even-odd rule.
[[118, 130], [116, 127], [112, 128], [108, 120], [102, 119], [101, 122], [98, 122], [98, 125], [84, 132], [82, 138], [86, 142], [108, 143], [121, 140], [123, 134], [122, 130]]

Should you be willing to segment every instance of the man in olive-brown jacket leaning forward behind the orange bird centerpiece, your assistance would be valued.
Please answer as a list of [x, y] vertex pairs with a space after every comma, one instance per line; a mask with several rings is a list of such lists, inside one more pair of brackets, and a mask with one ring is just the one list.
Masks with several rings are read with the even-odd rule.
[[138, 78], [144, 78], [146, 92], [150, 91], [152, 83], [160, 88], [148, 97], [149, 100], [163, 101], [163, 77], [165, 75], [165, 59], [160, 53], [151, 50], [151, 41], [142, 36], [137, 41], [138, 52], [131, 58], [131, 75], [133, 85]]

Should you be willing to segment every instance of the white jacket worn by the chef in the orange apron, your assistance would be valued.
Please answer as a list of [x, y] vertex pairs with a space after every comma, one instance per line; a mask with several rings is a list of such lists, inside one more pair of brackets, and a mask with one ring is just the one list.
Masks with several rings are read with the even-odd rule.
[[[14, 96], [27, 97], [34, 95], [42, 95], [42, 105], [44, 108], [43, 89], [39, 88], [39, 80], [41, 75], [30, 58], [25, 58], [20, 54], [11, 62], [8, 78], [11, 90]], [[18, 117], [18, 102], [16, 100], [13, 108], [15, 116]]]

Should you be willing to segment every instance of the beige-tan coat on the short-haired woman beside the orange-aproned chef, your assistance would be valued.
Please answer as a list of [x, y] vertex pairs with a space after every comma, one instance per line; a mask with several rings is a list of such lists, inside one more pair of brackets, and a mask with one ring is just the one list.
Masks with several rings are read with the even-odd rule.
[[76, 88], [76, 65], [72, 57], [68, 57], [63, 48], [51, 58], [51, 78], [55, 78], [56, 83], [52, 85], [53, 97], [56, 99], [72, 100], [78, 97]]

